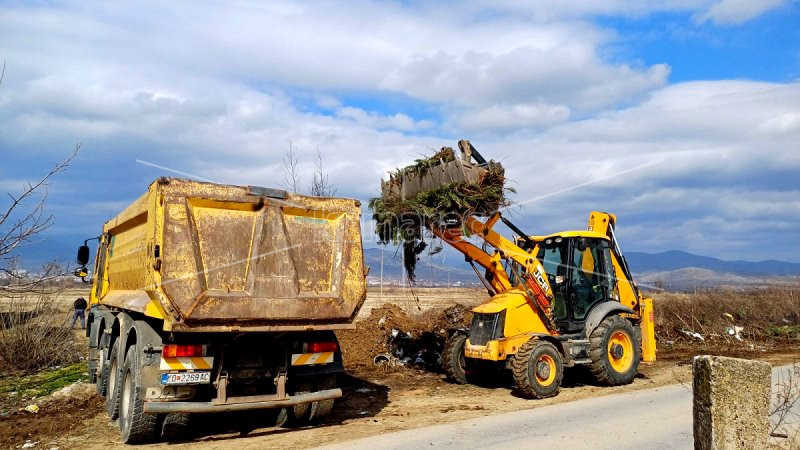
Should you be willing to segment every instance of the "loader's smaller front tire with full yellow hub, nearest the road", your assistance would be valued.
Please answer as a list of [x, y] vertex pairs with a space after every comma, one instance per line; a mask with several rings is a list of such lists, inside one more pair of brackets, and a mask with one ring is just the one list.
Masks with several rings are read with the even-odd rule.
[[512, 358], [511, 371], [521, 396], [554, 397], [558, 395], [564, 378], [564, 362], [555, 345], [530, 339]]

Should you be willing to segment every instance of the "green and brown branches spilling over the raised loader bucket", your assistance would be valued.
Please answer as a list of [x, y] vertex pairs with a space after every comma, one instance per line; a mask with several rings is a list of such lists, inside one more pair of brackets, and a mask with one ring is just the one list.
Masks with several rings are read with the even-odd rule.
[[[414, 164], [398, 169], [392, 178], [400, 180], [412, 173], [422, 175], [455, 158], [453, 149], [444, 147], [430, 158], [418, 159]], [[514, 190], [505, 187], [503, 166], [489, 161], [486, 169], [472, 183], [445, 184], [405, 200], [392, 196], [375, 197], [369, 201], [379, 243], [403, 245], [403, 260], [410, 281], [414, 280], [417, 255], [426, 248], [423, 236], [426, 224], [447, 218], [458, 218], [459, 222], [463, 222], [462, 219], [467, 216], [489, 216], [510, 205], [506, 192]]]

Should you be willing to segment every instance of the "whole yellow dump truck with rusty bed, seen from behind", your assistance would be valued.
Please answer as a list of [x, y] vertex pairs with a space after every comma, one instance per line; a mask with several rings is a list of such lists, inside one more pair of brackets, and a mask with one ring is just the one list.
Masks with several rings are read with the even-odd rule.
[[334, 331], [352, 328], [366, 297], [360, 211], [353, 199], [160, 178], [106, 222], [89, 373], [123, 441], [193, 413], [276, 408], [290, 425], [328, 414], [342, 395]]

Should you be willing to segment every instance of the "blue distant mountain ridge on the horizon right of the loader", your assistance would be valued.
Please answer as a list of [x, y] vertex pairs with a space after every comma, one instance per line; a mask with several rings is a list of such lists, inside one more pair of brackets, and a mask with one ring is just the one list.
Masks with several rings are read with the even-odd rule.
[[797, 276], [800, 275], [800, 263], [784, 261], [723, 261], [709, 256], [693, 255], [679, 250], [662, 253], [627, 252], [633, 273], [665, 272], [694, 267], [715, 272], [749, 276]]

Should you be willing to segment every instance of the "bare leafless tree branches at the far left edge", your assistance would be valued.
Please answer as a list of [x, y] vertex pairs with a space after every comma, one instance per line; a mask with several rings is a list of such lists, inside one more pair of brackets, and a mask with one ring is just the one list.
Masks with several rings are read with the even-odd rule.
[[11, 200], [0, 209], [0, 272], [14, 282], [0, 287], [0, 291], [23, 292], [63, 275], [58, 265], [48, 264], [36, 276], [28, 276], [16, 267], [15, 254], [20, 248], [35, 242], [36, 237], [53, 224], [53, 215], [44, 210], [47, 187], [54, 175], [67, 169], [80, 148], [81, 145], [77, 144], [69, 157], [38, 181], [25, 184], [20, 193], [8, 193]]

